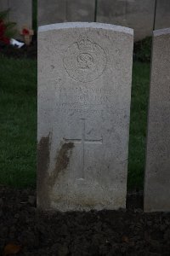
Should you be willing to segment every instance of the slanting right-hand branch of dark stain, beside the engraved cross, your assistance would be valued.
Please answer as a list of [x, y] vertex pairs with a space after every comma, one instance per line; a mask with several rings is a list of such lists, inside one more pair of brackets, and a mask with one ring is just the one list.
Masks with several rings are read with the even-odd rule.
[[50, 176], [50, 186], [54, 185], [56, 179], [59, 177], [59, 173], [67, 168], [70, 162], [72, 148], [74, 148], [74, 143], [64, 143], [59, 149], [56, 156], [54, 172]]

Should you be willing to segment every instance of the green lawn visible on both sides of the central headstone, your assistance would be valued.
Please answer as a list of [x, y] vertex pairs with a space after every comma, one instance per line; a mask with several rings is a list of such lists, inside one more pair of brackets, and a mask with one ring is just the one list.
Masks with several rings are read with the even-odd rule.
[[[36, 186], [37, 61], [0, 56], [0, 183]], [[134, 62], [128, 189], [144, 182], [150, 64]]]

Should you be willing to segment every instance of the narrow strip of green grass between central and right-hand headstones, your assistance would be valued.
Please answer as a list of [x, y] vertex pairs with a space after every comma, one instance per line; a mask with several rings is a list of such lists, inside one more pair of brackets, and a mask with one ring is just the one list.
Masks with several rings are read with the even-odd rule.
[[128, 156], [128, 189], [142, 189], [144, 184], [149, 84], [150, 64], [134, 62]]

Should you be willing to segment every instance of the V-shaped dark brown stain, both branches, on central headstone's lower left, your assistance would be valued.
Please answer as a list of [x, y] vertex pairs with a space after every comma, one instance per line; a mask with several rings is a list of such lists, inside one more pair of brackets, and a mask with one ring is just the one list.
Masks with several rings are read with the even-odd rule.
[[59, 177], [59, 173], [63, 172], [70, 161], [72, 148], [74, 143], [64, 143], [59, 149], [56, 156], [54, 171], [49, 175], [49, 152], [51, 146], [50, 133], [48, 137], [42, 137], [37, 148], [37, 207], [42, 210], [50, 209], [50, 195], [52, 193], [54, 183]]

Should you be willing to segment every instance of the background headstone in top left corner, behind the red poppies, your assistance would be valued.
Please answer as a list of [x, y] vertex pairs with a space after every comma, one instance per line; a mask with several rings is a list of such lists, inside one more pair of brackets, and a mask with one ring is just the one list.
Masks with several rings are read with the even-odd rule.
[[32, 1], [31, 0], [0, 0], [0, 11], [10, 9], [8, 20], [16, 23], [17, 35], [23, 26], [32, 27]]

